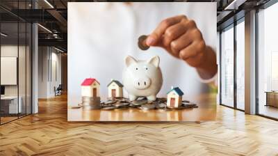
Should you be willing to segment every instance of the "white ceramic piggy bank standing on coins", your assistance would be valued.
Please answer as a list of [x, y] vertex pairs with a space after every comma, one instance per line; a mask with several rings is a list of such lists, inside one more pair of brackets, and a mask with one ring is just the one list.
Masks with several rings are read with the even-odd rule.
[[124, 88], [129, 93], [129, 100], [139, 97], [147, 100], [156, 100], [156, 94], [161, 90], [163, 83], [159, 57], [154, 56], [148, 61], [136, 61], [131, 56], [125, 59], [126, 68], [123, 72]]

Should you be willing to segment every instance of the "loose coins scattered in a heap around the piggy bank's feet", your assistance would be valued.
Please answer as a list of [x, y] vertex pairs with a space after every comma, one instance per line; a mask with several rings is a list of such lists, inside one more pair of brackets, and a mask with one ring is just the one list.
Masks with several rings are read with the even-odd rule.
[[164, 111], [171, 111], [172, 109], [191, 109], [197, 108], [197, 104], [190, 103], [187, 100], [183, 100], [181, 106], [177, 108], [167, 107], [166, 98], [156, 98], [155, 101], [148, 101], [146, 98], [139, 98], [138, 100], [130, 101], [127, 98], [113, 98], [108, 99], [106, 102], [101, 102], [101, 109], [113, 110], [113, 109], [128, 109], [137, 108], [143, 111], [152, 109], [161, 109]]

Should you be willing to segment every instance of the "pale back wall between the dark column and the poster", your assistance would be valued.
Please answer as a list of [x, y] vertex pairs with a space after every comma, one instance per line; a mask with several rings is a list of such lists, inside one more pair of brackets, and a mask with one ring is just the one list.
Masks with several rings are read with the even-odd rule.
[[54, 97], [54, 86], [61, 84], [61, 54], [53, 47], [39, 47], [38, 60], [38, 98]]

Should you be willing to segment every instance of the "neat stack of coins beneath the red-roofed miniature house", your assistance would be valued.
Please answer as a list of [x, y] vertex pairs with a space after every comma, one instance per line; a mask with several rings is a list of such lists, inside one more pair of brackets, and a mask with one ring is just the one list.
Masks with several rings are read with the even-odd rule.
[[101, 109], [99, 97], [82, 97], [83, 109]]

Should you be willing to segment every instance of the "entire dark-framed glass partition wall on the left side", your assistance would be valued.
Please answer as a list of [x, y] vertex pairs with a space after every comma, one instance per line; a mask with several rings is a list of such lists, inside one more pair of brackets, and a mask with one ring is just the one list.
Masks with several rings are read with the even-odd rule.
[[[13, 1], [13, 9], [30, 3]], [[31, 31], [31, 23], [0, 8], [0, 124], [31, 114]]]

